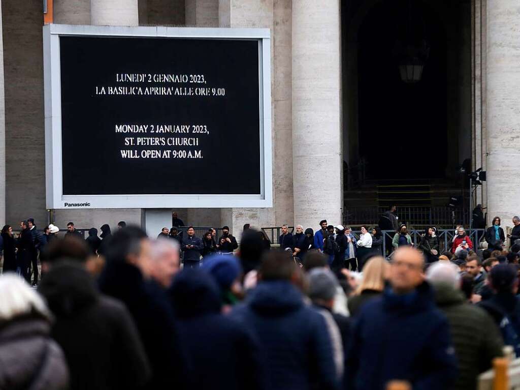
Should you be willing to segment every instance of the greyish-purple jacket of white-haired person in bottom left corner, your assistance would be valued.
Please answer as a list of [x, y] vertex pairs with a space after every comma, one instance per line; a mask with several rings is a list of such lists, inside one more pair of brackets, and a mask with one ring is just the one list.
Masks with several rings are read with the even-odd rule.
[[0, 326], [0, 389], [62, 390], [69, 373], [46, 320], [18, 318]]

